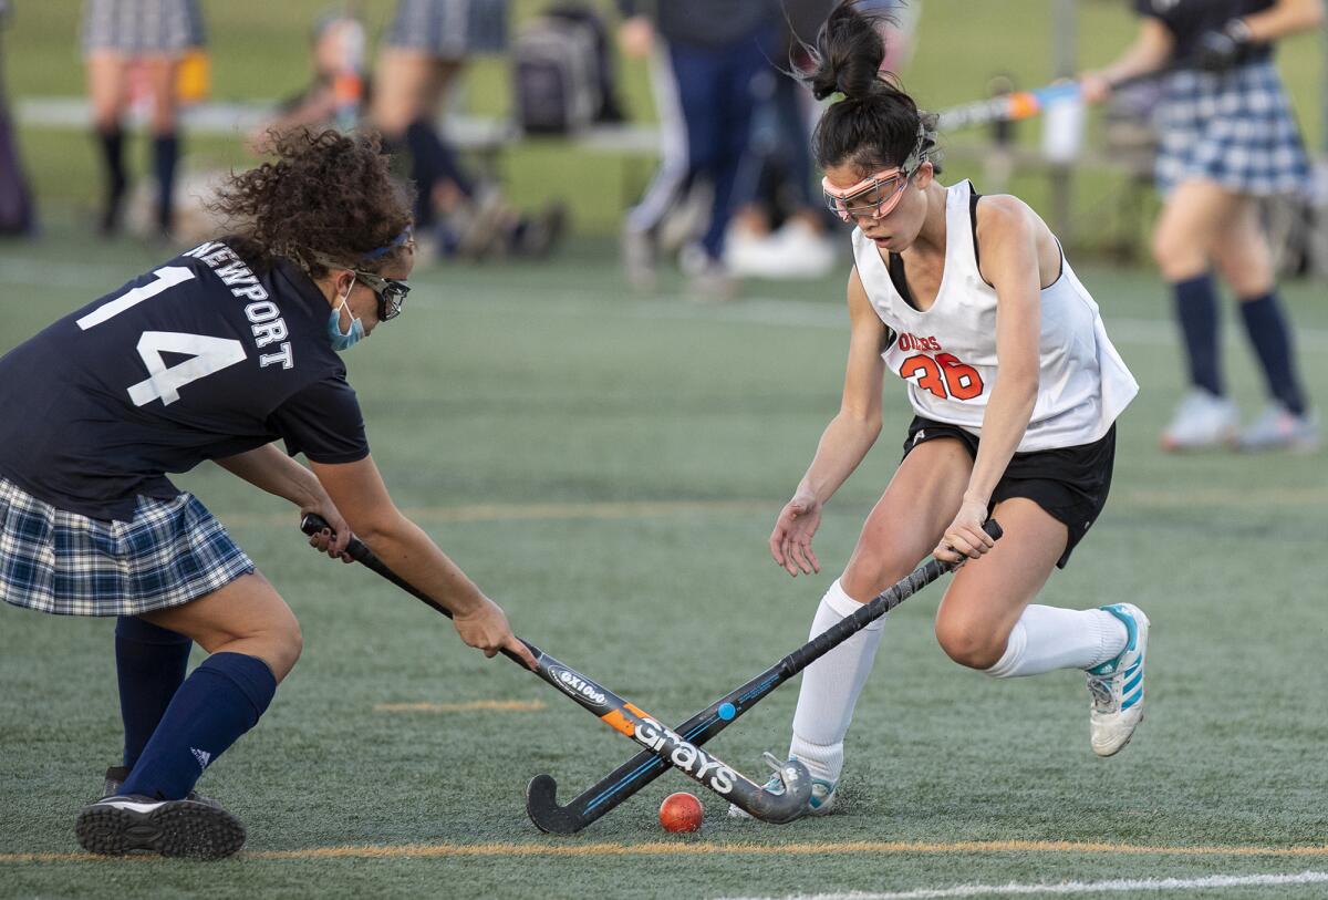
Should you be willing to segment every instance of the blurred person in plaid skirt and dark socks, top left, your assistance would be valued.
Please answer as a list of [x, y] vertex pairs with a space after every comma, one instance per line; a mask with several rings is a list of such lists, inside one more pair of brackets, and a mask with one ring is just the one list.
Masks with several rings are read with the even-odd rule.
[[106, 171], [102, 234], [120, 230], [129, 179], [124, 161], [124, 115], [129, 105], [129, 68], [138, 62], [151, 96], [149, 130], [157, 178], [157, 228], [171, 230], [171, 198], [179, 159], [178, 69], [185, 52], [203, 44], [198, 0], [85, 0], [82, 46], [88, 61], [88, 97]]

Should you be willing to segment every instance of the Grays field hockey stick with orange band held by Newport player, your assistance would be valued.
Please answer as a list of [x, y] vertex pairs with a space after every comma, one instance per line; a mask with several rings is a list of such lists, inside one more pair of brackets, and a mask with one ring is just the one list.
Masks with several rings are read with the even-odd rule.
[[[300, 520], [300, 530], [307, 535], [316, 535], [324, 528], [331, 531], [327, 520], [312, 512]], [[452, 612], [446, 607], [393, 572], [359, 538], [351, 538], [345, 552], [357, 563], [373, 569], [406, 593], [422, 600], [448, 619], [452, 619]], [[780, 762], [773, 755], [765, 754], [766, 761], [782, 783], [782, 792], [768, 791], [732, 766], [725, 765], [721, 759], [703, 751], [676, 731], [665, 727], [653, 715], [623, 700], [612, 690], [591, 681], [571, 666], [559, 662], [530, 641], [519, 637], [517, 640], [525, 644], [526, 649], [535, 657], [535, 662], [539, 666], [537, 674], [540, 678], [558, 688], [558, 690], [571, 697], [580, 706], [588, 709], [615, 731], [625, 734], [645, 747], [647, 755], [652, 759], [659, 759], [661, 767], [673, 766], [692, 781], [708, 787], [762, 822], [776, 824], [791, 822], [806, 807], [807, 799], [811, 796], [811, 777], [802, 763]], [[525, 661], [515, 652], [503, 649], [501, 653], [522, 669], [527, 669]]]

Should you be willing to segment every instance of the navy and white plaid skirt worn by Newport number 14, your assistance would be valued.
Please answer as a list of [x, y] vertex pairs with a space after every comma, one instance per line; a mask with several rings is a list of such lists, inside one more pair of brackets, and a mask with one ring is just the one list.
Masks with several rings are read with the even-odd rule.
[[56, 508], [0, 478], [0, 599], [61, 616], [178, 607], [254, 571], [191, 494], [138, 498], [133, 522]]

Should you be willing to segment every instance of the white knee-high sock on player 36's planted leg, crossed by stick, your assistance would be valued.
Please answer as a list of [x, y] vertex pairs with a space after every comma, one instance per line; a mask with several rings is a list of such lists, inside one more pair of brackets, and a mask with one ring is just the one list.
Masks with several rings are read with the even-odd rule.
[[[811, 620], [811, 637], [859, 608], [862, 604], [845, 593], [839, 581], [835, 581], [817, 607], [817, 615]], [[802, 761], [813, 778], [839, 781], [839, 771], [843, 769], [843, 735], [853, 721], [858, 694], [871, 674], [884, 624], [884, 619], [875, 620], [802, 673], [789, 755]]]

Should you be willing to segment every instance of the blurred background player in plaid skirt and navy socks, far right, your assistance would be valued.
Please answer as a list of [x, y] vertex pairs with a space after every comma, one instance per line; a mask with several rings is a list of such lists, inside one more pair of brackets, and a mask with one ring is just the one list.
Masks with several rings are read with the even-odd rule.
[[[1309, 165], [1272, 64], [1274, 42], [1323, 21], [1323, 0], [1135, 0], [1134, 44], [1082, 78], [1085, 98], [1166, 70], [1154, 166], [1163, 195], [1153, 255], [1171, 283], [1190, 392], [1162, 434], [1167, 450], [1234, 442], [1247, 450], [1319, 446], [1296, 370], [1258, 198], [1304, 190]], [[1239, 299], [1271, 402], [1243, 433], [1222, 373], [1211, 267]]]

